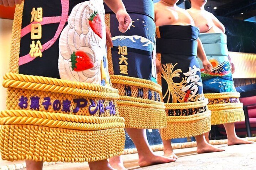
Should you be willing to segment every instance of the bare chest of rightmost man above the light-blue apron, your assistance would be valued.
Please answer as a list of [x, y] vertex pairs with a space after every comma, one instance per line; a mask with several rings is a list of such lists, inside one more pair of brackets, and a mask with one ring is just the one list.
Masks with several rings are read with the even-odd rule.
[[200, 11], [189, 9], [187, 10], [194, 19], [195, 26], [205, 33], [222, 33], [222, 30], [213, 22], [213, 15], [208, 11]]

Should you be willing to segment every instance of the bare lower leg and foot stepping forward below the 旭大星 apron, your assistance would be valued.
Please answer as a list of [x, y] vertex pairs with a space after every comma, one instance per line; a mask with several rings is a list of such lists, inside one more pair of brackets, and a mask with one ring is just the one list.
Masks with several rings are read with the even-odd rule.
[[149, 148], [146, 129], [125, 128], [135, 144], [139, 154], [139, 166], [149, 166], [160, 163], [174, 162], [176, 159], [158, 156]]

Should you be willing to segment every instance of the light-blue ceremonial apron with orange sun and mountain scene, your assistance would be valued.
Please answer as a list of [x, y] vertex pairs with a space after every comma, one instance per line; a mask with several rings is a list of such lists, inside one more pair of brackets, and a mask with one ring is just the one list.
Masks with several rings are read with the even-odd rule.
[[212, 125], [244, 121], [243, 104], [235, 90], [228, 59], [227, 36], [223, 33], [200, 33], [199, 38], [213, 66], [210, 74], [204, 73], [202, 62], [199, 61], [203, 92], [209, 99], [208, 107], [212, 111]]

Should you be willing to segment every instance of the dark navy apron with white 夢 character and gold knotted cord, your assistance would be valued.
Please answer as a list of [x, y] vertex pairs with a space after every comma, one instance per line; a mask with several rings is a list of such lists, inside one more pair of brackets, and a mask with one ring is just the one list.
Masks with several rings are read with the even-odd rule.
[[211, 130], [211, 112], [197, 61], [199, 29], [194, 26], [156, 27], [157, 57], [162, 63], [163, 100], [167, 127], [162, 139], [196, 136]]

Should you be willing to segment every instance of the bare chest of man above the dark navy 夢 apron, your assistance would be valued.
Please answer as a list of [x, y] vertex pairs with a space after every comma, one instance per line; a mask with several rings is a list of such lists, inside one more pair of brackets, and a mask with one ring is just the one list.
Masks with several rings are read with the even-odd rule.
[[166, 6], [163, 2], [155, 3], [155, 25], [192, 25], [193, 18], [190, 14], [177, 6]]

